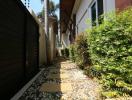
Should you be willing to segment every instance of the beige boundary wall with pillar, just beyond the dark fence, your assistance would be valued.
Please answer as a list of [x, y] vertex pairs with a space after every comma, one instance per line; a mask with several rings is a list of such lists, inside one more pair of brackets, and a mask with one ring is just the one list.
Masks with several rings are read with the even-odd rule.
[[31, 11], [36, 22], [39, 24], [39, 65], [51, 63], [56, 57], [56, 34], [57, 22], [54, 18], [49, 18], [49, 39], [44, 31], [44, 26], [39, 22], [35, 13]]

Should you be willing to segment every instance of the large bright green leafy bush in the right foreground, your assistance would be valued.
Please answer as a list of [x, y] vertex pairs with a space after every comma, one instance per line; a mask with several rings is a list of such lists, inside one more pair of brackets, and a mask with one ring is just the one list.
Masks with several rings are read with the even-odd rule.
[[88, 31], [88, 44], [94, 66], [88, 74], [99, 75], [103, 95], [132, 96], [132, 8], [107, 16], [100, 26]]

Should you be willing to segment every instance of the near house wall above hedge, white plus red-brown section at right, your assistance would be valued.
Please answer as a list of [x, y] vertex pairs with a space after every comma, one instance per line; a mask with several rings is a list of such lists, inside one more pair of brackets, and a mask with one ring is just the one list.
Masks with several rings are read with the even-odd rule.
[[[84, 32], [87, 28], [90, 28], [91, 23], [87, 20], [91, 19], [90, 6], [94, 1], [96, 0], [81, 0], [79, 5], [75, 3], [74, 9], [77, 10], [73, 11], [73, 14], [76, 13], [77, 34]], [[131, 5], [132, 0], [103, 0], [104, 14], [115, 11], [116, 9], [123, 10]]]

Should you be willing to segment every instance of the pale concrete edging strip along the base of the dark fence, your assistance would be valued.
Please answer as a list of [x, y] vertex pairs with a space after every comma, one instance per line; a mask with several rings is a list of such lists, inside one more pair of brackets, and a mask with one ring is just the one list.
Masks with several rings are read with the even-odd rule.
[[26, 85], [24, 85], [10, 100], [18, 100], [43, 71], [44, 68], [41, 69], [40, 72], [35, 75]]

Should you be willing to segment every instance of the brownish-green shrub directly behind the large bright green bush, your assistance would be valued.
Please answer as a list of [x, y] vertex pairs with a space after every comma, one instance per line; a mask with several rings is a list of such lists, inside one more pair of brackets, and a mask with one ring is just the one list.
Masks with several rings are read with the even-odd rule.
[[88, 44], [86, 33], [81, 33], [76, 37], [75, 40], [76, 45], [76, 63], [80, 68], [84, 68], [84, 66], [90, 65], [90, 57], [88, 53]]

